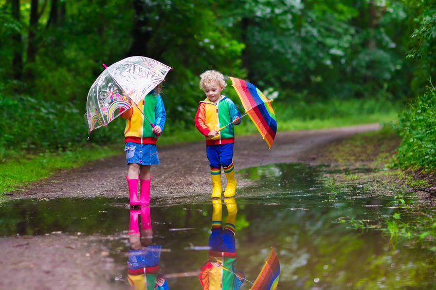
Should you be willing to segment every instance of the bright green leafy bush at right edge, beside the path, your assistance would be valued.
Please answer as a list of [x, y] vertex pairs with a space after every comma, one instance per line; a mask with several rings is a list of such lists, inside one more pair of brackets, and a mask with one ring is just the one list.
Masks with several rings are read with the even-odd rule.
[[398, 148], [397, 166], [436, 168], [436, 89], [429, 88], [412, 101], [396, 124], [403, 138]]

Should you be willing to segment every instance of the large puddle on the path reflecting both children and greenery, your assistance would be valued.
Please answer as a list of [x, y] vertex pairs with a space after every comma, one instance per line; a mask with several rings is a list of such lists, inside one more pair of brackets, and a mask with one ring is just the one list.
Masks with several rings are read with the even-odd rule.
[[[0, 236], [102, 236], [119, 269], [113, 282], [123, 287], [129, 279], [144, 282], [144, 265], [153, 279], [158, 264], [170, 289], [202, 289], [198, 270], [210, 270], [209, 250], [229, 253], [221, 257], [225, 265], [254, 282], [272, 247], [281, 267], [278, 289], [433, 288], [433, 252], [393, 247], [380, 230], [350, 226], [385, 223], [399, 210], [393, 198], [361, 184], [332, 190], [325, 170], [301, 164], [249, 168], [239, 173], [253, 186], [219, 202], [209, 194], [188, 204], [152, 201], [142, 209], [127, 207], [127, 197], [10, 201], [0, 205]], [[234, 277], [226, 272], [223, 284]], [[250, 287], [245, 281], [240, 289]]]

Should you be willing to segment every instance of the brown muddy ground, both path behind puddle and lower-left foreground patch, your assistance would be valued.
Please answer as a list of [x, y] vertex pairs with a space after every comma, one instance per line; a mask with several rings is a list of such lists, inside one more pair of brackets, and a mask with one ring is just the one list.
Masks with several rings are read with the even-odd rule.
[[[238, 175], [238, 169], [271, 163], [316, 164], [318, 152], [322, 151], [317, 148], [356, 132], [379, 128], [378, 124], [370, 124], [279, 132], [270, 150], [259, 135], [238, 136], [233, 157], [238, 187], [249, 184]], [[160, 164], [152, 167], [151, 206], [210, 197], [212, 186], [204, 142], [163, 146], [158, 150]], [[9, 198], [104, 196], [125, 198], [128, 206], [126, 169], [124, 155], [99, 160], [10, 192]], [[0, 238], [0, 257], [0, 289], [119, 289], [109, 281], [114, 263], [96, 236], [52, 233]]]

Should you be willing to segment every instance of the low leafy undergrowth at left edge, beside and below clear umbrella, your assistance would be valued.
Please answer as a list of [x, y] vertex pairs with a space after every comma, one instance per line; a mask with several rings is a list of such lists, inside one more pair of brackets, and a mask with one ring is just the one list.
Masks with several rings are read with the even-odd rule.
[[[64, 149], [87, 141], [88, 128], [84, 112], [73, 104], [37, 101], [29, 96], [14, 99], [0, 94], [0, 157], [6, 151]], [[124, 123], [113, 122], [111, 128], [101, 128], [91, 134], [96, 143], [123, 140]], [[112, 125], [112, 124], [111, 124]]]

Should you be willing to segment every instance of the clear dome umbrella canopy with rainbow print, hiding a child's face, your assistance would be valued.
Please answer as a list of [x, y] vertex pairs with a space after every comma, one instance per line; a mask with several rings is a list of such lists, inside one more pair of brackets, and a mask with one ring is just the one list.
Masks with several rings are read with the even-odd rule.
[[89, 131], [106, 126], [136, 105], [164, 80], [171, 69], [145, 56], [131, 56], [109, 67], [103, 66], [106, 69], [89, 89], [86, 100]]

